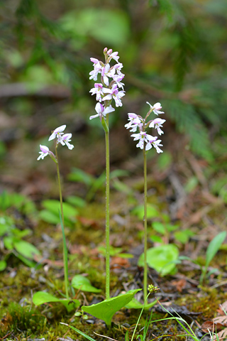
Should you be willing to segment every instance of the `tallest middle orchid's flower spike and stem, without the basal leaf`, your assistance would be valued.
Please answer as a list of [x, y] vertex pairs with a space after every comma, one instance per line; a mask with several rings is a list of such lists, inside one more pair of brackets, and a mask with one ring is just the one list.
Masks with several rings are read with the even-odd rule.
[[[97, 114], [92, 115], [90, 119], [99, 117], [101, 124], [105, 131], [106, 139], [106, 298], [110, 298], [110, 245], [109, 245], [109, 114], [114, 112], [115, 109], [111, 106], [114, 99], [116, 107], [122, 107], [121, 98], [125, 95], [123, 90], [123, 73], [121, 69], [122, 63], [118, 63], [118, 52], [104, 48], [105, 63], [102, 61], [91, 58], [94, 66], [89, 75], [90, 80], [97, 80], [100, 74], [101, 82], [94, 83], [94, 87], [90, 90], [96, 94], [95, 111]], [[115, 65], [111, 66], [110, 62], [114, 60]], [[120, 90], [121, 89], [121, 90]]]

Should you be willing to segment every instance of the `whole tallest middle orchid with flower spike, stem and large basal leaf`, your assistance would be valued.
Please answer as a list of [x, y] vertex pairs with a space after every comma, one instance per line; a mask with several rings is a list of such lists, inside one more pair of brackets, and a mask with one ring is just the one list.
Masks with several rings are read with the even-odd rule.
[[[110, 298], [110, 243], [109, 243], [109, 180], [110, 180], [110, 158], [109, 158], [109, 114], [114, 112], [114, 107], [111, 103], [115, 102], [116, 107], [122, 107], [121, 99], [125, 95], [123, 90], [123, 73], [121, 69], [122, 63], [118, 63], [118, 52], [104, 48], [105, 62], [96, 58], [91, 58], [94, 70], [89, 75], [90, 80], [97, 81], [100, 75], [100, 82], [95, 83], [94, 87], [90, 90], [92, 95], [96, 95], [96, 114], [90, 116], [90, 119], [99, 118], [101, 125], [105, 132], [106, 141], [106, 300], [97, 304], [82, 306], [82, 310], [86, 313], [94, 315], [96, 318], [101, 318], [106, 322], [106, 325], [111, 324], [111, 319], [119, 309], [126, 306], [134, 297], [135, 293], [140, 289], [128, 291], [128, 293], [121, 296]], [[116, 63], [111, 66], [111, 61]]]

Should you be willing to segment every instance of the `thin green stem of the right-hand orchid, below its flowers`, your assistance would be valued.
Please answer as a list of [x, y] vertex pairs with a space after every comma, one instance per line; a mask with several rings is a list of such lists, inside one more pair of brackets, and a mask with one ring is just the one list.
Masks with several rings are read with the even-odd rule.
[[143, 300], [148, 296], [148, 264], [147, 264], [147, 250], [148, 250], [148, 222], [147, 222], [147, 155], [145, 151], [145, 144], [143, 147], [143, 172], [144, 172], [144, 270], [143, 270]]

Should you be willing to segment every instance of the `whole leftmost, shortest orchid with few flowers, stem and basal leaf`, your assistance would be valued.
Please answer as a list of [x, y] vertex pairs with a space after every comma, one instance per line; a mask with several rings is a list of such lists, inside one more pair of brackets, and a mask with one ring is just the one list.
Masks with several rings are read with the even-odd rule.
[[62, 146], [67, 146], [70, 150], [74, 148], [72, 144], [70, 144], [72, 134], [64, 134], [63, 131], [65, 131], [66, 125], [59, 126], [54, 131], [52, 131], [52, 134], [49, 137], [49, 141], [55, 140], [55, 153], [50, 151], [50, 149], [47, 146], [40, 145], [40, 156], [38, 156], [37, 160], [43, 160], [45, 156], [50, 156], [52, 158], [52, 161], [56, 163], [57, 166], [57, 182], [58, 182], [58, 188], [59, 188], [59, 195], [60, 195], [60, 223], [62, 227], [62, 241], [63, 241], [63, 261], [64, 261], [64, 276], [65, 276], [65, 300], [62, 300], [60, 298], [56, 298], [55, 296], [50, 295], [49, 293], [38, 291], [33, 295], [33, 303], [35, 305], [40, 305], [43, 303], [48, 302], [60, 302], [63, 305], [65, 305], [65, 308], [67, 308], [68, 311], [72, 310], [74, 308], [73, 305], [70, 305], [70, 302], [74, 302], [76, 306], [79, 305], [78, 300], [71, 300], [69, 296], [69, 282], [68, 282], [68, 264], [67, 264], [67, 245], [65, 241], [65, 229], [64, 229], [64, 213], [63, 213], [63, 201], [62, 201], [62, 189], [61, 189], [61, 182], [60, 182], [60, 170], [59, 170], [59, 161], [57, 156], [57, 147], [59, 144]]

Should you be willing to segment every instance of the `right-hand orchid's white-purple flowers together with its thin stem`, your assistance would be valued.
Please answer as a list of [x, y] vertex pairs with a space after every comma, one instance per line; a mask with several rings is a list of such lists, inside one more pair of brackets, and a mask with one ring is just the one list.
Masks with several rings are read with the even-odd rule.
[[145, 119], [140, 115], [134, 113], [128, 113], [128, 123], [125, 125], [126, 129], [131, 129], [130, 131], [135, 133], [135, 131], [139, 131], [138, 133], [132, 134], [131, 136], [134, 138], [134, 141], [138, 141], [136, 145], [138, 148], [143, 150], [143, 171], [144, 171], [144, 272], [143, 272], [143, 297], [144, 301], [148, 295], [148, 264], [147, 264], [147, 250], [148, 250], [148, 232], [147, 232], [147, 152], [151, 148], [155, 148], [157, 153], [162, 153], [160, 147], [162, 146], [161, 140], [157, 139], [157, 136], [152, 136], [147, 134], [146, 129], [155, 128], [157, 129], [157, 134], [162, 135], [164, 132], [162, 131], [162, 124], [165, 123], [165, 119], [151, 119], [149, 120], [150, 114], [153, 112], [155, 115], [164, 114], [161, 112], [162, 109], [161, 104], [155, 103], [151, 105], [149, 102], [146, 102], [150, 109], [145, 116]]

